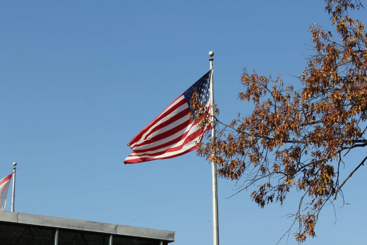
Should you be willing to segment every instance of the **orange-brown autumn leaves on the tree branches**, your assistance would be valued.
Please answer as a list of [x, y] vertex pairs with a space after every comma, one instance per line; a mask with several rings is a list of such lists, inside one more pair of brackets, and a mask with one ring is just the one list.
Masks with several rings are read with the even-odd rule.
[[[367, 159], [349, 163], [354, 170], [339, 179], [343, 158], [367, 145], [367, 35], [363, 23], [348, 14], [362, 5], [325, 2], [336, 33], [310, 26], [315, 55], [298, 77], [302, 89], [245, 69], [239, 99], [253, 103], [254, 111], [228, 124], [217, 120], [217, 138], [198, 150], [217, 163], [219, 176], [244, 180], [239, 191], [258, 186], [251, 198], [261, 207], [282, 204], [291, 190], [301, 192], [294, 214], [298, 242], [315, 236], [320, 210], [340, 197], [345, 182]], [[195, 119], [207, 125], [195, 94], [191, 105]]]

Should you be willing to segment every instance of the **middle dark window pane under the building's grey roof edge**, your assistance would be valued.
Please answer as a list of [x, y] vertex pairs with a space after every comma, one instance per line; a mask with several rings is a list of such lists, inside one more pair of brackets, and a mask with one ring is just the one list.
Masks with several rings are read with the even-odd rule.
[[110, 235], [84, 231], [60, 230], [59, 245], [108, 245]]

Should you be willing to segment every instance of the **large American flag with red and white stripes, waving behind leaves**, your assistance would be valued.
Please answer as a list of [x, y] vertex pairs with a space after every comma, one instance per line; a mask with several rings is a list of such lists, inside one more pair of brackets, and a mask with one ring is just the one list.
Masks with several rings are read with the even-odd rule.
[[174, 158], [196, 149], [197, 141], [201, 141], [204, 132], [211, 127], [208, 125], [201, 130], [197, 121], [189, 118], [189, 112], [194, 113], [190, 107], [190, 99], [196, 88], [201, 102], [209, 108], [211, 73], [212, 70], [197, 80], [130, 140], [127, 145], [131, 147], [132, 153], [124, 163]]

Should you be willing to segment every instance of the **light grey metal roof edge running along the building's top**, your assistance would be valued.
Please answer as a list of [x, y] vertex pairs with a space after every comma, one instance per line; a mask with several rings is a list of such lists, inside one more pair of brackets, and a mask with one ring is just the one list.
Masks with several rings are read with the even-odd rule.
[[123, 226], [119, 224], [108, 224], [94, 221], [57, 218], [42, 215], [30, 215], [26, 213], [0, 211], [0, 221], [35, 226], [65, 228], [80, 231], [92, 231], [106, 234], [125, 235], [130, 237], [159, 239], [167, 242], [173, 242], [175, 240], [174, 231]]

